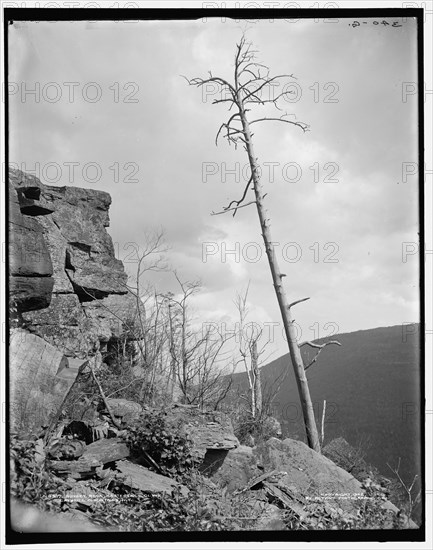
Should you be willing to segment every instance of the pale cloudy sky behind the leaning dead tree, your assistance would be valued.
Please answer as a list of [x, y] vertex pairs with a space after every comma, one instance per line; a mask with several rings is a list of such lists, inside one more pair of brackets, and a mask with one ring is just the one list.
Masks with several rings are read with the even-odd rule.
[[[201, 320], [230, 323], [250, 281], [250, 320], [270, 327], [279, 312], [254, 205], [211, 216], [241, 196], [246, 154], [215, 146], [228, 118], [227, 104], [212, 105], [217, 90], [180, 76], [231, 79], [246, 30], [272, 74], [296, 77], [280, 105], [310, 125], [254, 128], [289, 300], [311, 297], [295, 311], [299, 336], [417, 321], [416, 25], [360, 21], [16, 23], [10, 160], [44, 183], [109, 192], [128, 270], [146, 231], [162, 227], [171, 266], [201, 279]], [[153, 282], [176, 291], [170, 273]]]

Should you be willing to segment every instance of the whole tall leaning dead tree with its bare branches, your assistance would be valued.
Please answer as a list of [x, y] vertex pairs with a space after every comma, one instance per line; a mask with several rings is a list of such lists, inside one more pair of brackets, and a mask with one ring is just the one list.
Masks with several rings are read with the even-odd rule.
[[[263, 191], [263, 185], [260, 179], [260, 167], [254, 151], [254, 134], [251, 132], [251, 127], [254, 124], [270, 121], [291, 124], [300, 128], [303, 132], [308, 130], [308, 125], [297, 121], [292, 117], [292, 115], [287, 114], [287, 112], [279, 116], [258, 115], [257, 118], [251, 117], [250, 113], [252, 110], [266, 104], [272, 104], [271, 106], [282, 112], [279, 106], [279, 100], [286, 94], [293, 93], [290, 90], [286, 90], [281, 93], [277, 93], [275, 94], [275, 97], [272, 97], [274, 88], [276, 88], [277, 85], [284, 81], [287, 82], [294, 79], [294, 76], [289, 74], [270, 76], [269, 68], [266, 65], [256, 61], [256, 53], [257, 51], [253, 50], [252, 44], [246, 41], [245, 36], [242, 36], [239, 44], [236, 45], [234, 79], [232, 82], [229, 82], [219, 76], [213, 76], [210, 71], [208, 78], [184, 78], [191, 86], [197, 86], [198, 88], [211, 83], [212, 85], [217, 86], [219, 94], [217, 98], [213, 99], [212, 103], [227, 103], [229, 106], [229, 111], [234, 109], [233, 114], [231, 114], [227, 121], [223, 122], [219, 127], [216, 134], [215, 143], [218, 145], [218, 139], [220, 137], [227, 139], [229, 144], [233, 144], [235, 147], [241, 143], [248, 155], [251, 175], [241, 198], [239, 200], [232, 200], [226, 207], [223, 208], [221, 212], [214, 212], [213, 214], [233, 212], [233, 216], [235, 216], [236, 212], [240, 208], [244, 208], [251, 204], [255, 204], [257, 207], [265, 250], [272, 274], [272, 281], [281, 311], [284, 331], [289, 345], [290, 357], [301, 400], [307, 441], [312, 449], [320, 452], [320, 440], [317, 432], [313, 404], [311, 401], [305, 371], [306, 368], [311, 366], [316, 361], [317, 356], [322, 351], [323, 347], [328, 344], [340, 344], [336, 341], [330, 341], [322, 345], [313, 342], [304, 342], [302, 344], [298, 344], [297, 342], [297, 331], [292, 317], [292, 308], [296, 304], [305, 302], [309, 298], [302, 298], [293, 302], [289, 302], [287, 298], [286, 290], [283, 286], [283, 278], [286, 275], [281, 272], [275, 254], [273, 244], [274, 241], [271, 236], [270, 218], [264, 202], [266, 194]], [[263, 97], [265, 91], [268, 92], [267, 98]], [[255, 198], [254, 200], [249, 201], [247, 199], [247, 194], [251, 188], [254, 191]], [[246, 200], [247, 202], [245, 202]], [[312, 348], [318, 349], [313, 360], [306, 366], [304, 365], [300, 349], [304, 345], [309, 345]]]

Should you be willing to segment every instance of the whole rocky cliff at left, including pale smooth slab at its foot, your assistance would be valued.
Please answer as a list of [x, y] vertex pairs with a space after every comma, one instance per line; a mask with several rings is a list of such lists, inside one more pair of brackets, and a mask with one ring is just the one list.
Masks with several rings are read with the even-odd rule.
[[[47, 421], [79, 367], [89, 358], [100, 361], [134, 317], [136, 300], [107, 232], [110, 203], [102, 191], [47, 186], [9, 172], [14, 427]], [[59, 385], [59, 377], [67, 382]]]

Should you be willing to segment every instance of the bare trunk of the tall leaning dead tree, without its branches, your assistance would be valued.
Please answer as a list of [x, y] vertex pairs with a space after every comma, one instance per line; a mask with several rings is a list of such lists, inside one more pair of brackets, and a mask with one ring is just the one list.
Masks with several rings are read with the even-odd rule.
[[290, 358], [292, 360], [293, 370], [295, 372], [296, 383], [298, 386], [299, 396], [301, 400], [302, 412], [304, 415], [305, 428], [307, 432], [308, 445], [315, 451], [320, 453], [320, 440], [317, 432], [316, 420], [314, 418], [313, 403], [311, 401], [308, 381], [305, 375], [304, 362], [301, 356], [298, 342], [296, 340], [296, 329], [293, 324], [291, 305], [287, 300], [286, 291], [284, 290], [282, 280], [285, 276], [278, 265], [271, 236], [270, 222], [266, 216], [266, 209], [263, 202], [263, 190], [260, 182], [259, 167], [257, 158], [254, 154], [254, 147], [251, 138], [250, 126], [246, 117], [245, 107], [243, 105], [241, 94], [238, 93], [237, 104], [239, 106], [239, 114], [242, 123], [243, 136], [248, 154], [248, 160], [251, 167], [254, 194], [256, 197], [257, 213], [259, 215], [260, 226], [262, 228], [262, 236], [265, 244], [265, 250], [269, 261], [269, 267], [272, 274], [275, 293], [277, 295], [278, 305], [280, 307], [281, 317], [283, 319], [284, 331], [286, 333], [289, 344]]

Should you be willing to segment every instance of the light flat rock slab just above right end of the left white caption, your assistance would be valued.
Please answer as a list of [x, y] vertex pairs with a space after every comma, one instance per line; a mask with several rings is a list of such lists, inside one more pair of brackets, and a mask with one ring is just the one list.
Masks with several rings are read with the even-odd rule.
[[116, 462], [116, 468], [126, 476], [124, 484], [132, 489], [139, 489], [145, 493], [171, 494], [175, 487], [180, 487], [183, 495], [188, 494], [188, 489], [174, 479], [152, 472], [139, 464], [120, 460]]

